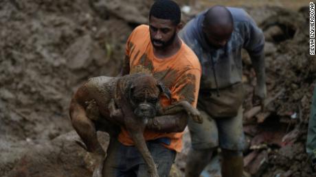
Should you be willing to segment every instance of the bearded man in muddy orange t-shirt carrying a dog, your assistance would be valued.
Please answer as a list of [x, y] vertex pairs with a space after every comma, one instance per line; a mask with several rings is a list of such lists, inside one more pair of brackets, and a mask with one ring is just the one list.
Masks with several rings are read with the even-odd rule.
[[[161, 96], [163, 107], [180, 100], [186, 100], [194, 107], [197, 104], [201, 66], [194, 52], [177, 35], [181, 29], [180, 19], [177, 3], [155, 1], [150, 8], [149, 25], [136, 27], [126, 42], [122, 74], [153, 74], [171, 92], [170, 99]], [[130, 107], [121, 109], [125, 117], [135, 116]], [[176, 152], [181, 151], [182, 132], [187, 123], [184, 112], [157, 116], [148, 121], [144, 137], [160, 177], [169, 175]], [[148, 176], [146, 165], [124, 127], [107, 154], [103, 176]]]

